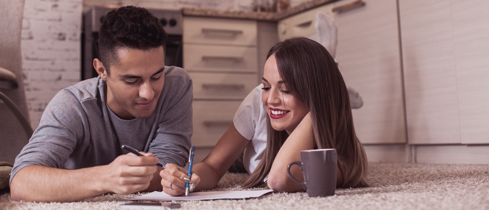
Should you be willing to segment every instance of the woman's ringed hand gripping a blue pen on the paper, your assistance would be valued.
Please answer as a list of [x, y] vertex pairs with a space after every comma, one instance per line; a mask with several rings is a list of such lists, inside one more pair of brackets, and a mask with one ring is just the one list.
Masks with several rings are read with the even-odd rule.
[[[183, 178], [188, 178], [185, 169], [171, 163], [166, 164], [165, 168], [166, 169], [160, 171], [163, 192], [170, 196], [185, 194], [186, 183], [183, 181]], [[200, 177], [193, 173], [190, 180], [197, 186], [200, 182]]]

